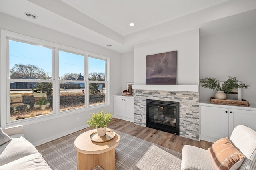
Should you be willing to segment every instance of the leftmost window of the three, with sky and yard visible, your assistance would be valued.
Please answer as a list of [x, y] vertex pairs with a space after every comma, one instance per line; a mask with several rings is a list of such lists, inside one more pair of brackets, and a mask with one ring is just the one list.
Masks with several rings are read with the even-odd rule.
[[9, 121], [52, 113], [54, 49], [12, 39], [8, 42]]

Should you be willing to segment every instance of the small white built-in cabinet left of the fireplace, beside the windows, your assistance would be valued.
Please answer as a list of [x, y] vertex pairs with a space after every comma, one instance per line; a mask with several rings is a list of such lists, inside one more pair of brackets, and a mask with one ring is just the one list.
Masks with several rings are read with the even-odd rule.
[[114, 95], [114, 117], [134, 122], [134, 97]]

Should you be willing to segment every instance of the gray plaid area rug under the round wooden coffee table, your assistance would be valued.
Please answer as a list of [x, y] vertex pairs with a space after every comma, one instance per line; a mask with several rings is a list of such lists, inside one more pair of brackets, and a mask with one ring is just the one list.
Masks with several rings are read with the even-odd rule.
[[[116, 170], [180, 170], [181, 153], [123, 132], [116, 147]], [[81, 131], [36, 147], [53, 170], [76, 170], [74, 140]], [[96, 166], [93, 170], [104, 170]]]

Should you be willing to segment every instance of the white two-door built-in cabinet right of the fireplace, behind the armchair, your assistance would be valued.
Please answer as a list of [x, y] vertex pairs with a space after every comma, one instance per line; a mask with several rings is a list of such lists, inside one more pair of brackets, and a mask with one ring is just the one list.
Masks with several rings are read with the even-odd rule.
[[237, 125], [256, 130], [256, 108], [200, 103], [200, 140], [229, 138]]

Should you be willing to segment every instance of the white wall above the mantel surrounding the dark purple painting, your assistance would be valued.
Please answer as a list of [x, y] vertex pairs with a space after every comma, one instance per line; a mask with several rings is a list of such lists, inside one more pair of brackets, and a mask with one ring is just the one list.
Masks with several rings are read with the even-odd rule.
[[146, 55], [178, 51], [177, 84], [199, 84], [199, 29], [134, 45], [134, 83], [146, 84]]

